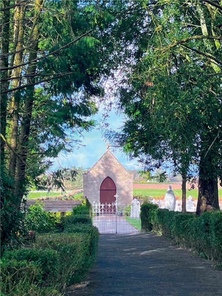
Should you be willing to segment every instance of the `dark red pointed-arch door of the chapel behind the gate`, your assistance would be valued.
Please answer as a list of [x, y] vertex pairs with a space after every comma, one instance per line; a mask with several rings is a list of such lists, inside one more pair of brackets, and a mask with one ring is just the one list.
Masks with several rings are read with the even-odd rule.
[[[116, 198], [114, 195], [116, 194], [116, 185], [112, 181], [110, 177], [105, 178], [102, 181], [102, 184], [100, 186], [100, 202], [101, 203], [107, 203], [112, 204], [112, 202], [115, 202]], [[107, 207], [108, 210], [108, 207]], [[115, 207], [112, 209], [115, 211]]]

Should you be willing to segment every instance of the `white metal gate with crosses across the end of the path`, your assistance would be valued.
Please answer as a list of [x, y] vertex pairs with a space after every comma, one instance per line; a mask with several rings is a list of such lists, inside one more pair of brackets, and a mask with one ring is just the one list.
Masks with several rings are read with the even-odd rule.
[[93, 202], [92, 219], [102, 234], [136, 233], [141, 229], [140, 210], [135, 204]]

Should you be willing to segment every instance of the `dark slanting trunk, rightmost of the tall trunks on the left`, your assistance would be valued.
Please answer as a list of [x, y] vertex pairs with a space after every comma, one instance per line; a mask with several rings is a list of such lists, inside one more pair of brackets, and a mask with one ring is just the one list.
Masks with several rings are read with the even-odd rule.
[[[32, 32], [32, 38], [31, 38], [31, 42], [33, 46], [30, 49], [29, 61], [32, 61], [37, 57], [38, 37], [39, 37], [39, 28], [38, 28], [37, 18], [38, 18], [39, 12], [42, 9], [43, 3], [44, 1], [42, 0], [39, 0], [39, 1], [37, 0], [35, 2], [36, 13], [33, 19], [34, 27], [32, 30], [33, 32]], [[27, 69], [27, 75], [32, 75], [35, 72], [36, 72], [36, 62], [29, 64]], [[34, 83], [34, 82], [35, 82], [35, 77], [27, 79], [27, 84]], [[35, 96], [34, 92], [35, 92], [34, 86], [27, 87], [27, 96], [26, 96], [25, 105], [24, 105], [24, 115], [22, 118], [21, 134], [20, 134], [20, 140], [18, 144], [18, 154], [20, 155], [20, 158], [17, 158], [14, 195], [19, 197], [20, 202], [22, 201], [23, 186], [25, 182], [25, 167], [26, 167], [25, 163], [26, 163], [27, 154], [28, 154], [28, 137], [30, 134], [30, 123], [32, 118], [32, 108], [33, 108], [33, 101]]]

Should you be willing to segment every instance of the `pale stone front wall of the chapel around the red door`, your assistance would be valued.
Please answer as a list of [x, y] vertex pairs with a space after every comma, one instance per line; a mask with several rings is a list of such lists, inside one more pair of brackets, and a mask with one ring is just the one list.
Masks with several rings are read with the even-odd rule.
[[119, 201], [129, 204], [133, 200], [133, 174], [128, 173], [122, 165], [107, 152], [86, 174], [83, 174], [83, 194], [92, 202], [100, 201], [102, 181], [110, 177], [116, 185]]

